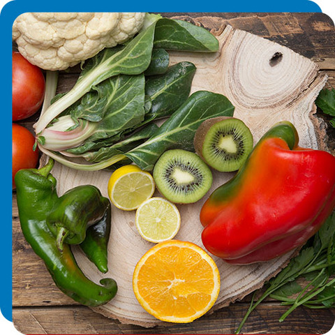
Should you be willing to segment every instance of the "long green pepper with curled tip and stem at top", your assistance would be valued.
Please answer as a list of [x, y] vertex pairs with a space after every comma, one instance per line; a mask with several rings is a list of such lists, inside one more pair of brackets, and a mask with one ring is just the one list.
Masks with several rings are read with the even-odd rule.
[[64, 244], [63, 251], [59, 251], [47, 227], [47, 214], [58, 200], [56, 179], [50, 174], [53, 163], [50, 159], [39, 170], [24, 169], [15, 175], [22, 232], [62, 292], [80, 304], [100, 306], [116, 295], [117, 283], [111, 278], [101, 279], [101, 285], [90, 281], [75, 262], [70, 246]]

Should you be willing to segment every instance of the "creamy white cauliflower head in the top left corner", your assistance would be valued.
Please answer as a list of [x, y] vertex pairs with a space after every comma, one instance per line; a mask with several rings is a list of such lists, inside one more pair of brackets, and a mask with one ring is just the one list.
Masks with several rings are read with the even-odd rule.
[[13, 40], [31, 64], [65, 70], [133, 37], [144, 17], [145, 13], [24, 13], [13, 24]]

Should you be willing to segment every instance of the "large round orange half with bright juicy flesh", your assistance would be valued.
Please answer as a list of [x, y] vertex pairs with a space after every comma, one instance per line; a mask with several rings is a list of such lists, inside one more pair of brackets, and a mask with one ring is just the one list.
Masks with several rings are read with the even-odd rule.
[[170, 240], [156, 244], [137, 263], [133, 290], [141, 306], [155, 318], [187, 323], [214, 305], [220, 274], [200, 246]]

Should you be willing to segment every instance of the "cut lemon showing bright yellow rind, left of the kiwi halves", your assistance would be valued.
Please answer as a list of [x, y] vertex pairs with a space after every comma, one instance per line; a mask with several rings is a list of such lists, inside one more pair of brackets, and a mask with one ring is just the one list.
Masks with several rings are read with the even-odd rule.
[[108, 181], [108, 195], [115, 207], [133, 211], [155, 191], [154, 178], [136, 165], [124, 165], [115, 170]]

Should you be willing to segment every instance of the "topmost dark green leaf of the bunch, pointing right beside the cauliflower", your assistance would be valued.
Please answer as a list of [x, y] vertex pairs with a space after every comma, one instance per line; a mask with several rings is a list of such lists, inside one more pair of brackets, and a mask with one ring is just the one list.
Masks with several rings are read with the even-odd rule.
[[186, 21], [163, 18], [156, 24], [154, 47], [165, 50], [216, 52], [218, 40], [202, 27]]

